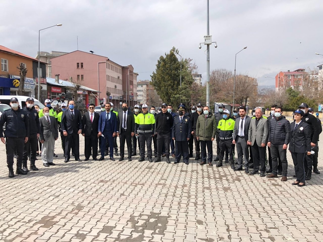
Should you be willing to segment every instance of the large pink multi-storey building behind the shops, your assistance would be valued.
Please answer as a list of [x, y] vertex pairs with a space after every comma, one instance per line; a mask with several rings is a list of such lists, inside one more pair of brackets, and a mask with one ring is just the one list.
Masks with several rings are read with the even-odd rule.
[[60, 79], [99, 90], [100, 103], [112, 102], [116, 107], [120, 101], [137, 104], [138, 74], [131, 65], [121, 66], [106, 56], [77, 50], [52, 58], [51, 66], [52, 77], [59, 74]]

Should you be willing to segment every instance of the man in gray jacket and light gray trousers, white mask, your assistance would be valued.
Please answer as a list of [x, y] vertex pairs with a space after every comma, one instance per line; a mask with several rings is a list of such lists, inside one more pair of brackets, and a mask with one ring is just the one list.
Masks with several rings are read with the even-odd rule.
[[49, 108], [44, 107], [43, 113], [45, 116], [39, 118], [40, 123], [40, 142], [42, 145], [41, 159], [43, 165], [55, 166], [53, 163], [55, 140], [58, 138], [58, 127], [54, 116], [49, 115]]

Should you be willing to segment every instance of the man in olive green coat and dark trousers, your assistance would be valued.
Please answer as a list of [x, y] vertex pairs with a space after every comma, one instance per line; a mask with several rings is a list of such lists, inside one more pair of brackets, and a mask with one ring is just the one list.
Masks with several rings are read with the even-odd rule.
[[206, 147], [208, 152], [208, 163], [209, 166], [213, 166], [213, 148], [212, 141], [215, 138], [216, 133], [216, 121], [214, 115], [210, 112], [210, 108], [205, 106], [203, 108], [203, 115], [200, 115], [196, 123], [196, 139], [200, 140], [201, 144], [201, 163], [200, 165], [206, 164]]

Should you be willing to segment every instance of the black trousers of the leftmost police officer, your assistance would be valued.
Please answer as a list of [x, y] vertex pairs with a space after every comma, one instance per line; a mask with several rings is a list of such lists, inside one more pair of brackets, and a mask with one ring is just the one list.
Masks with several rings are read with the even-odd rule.
[[5, 138], [5, 149], [7, 154], [7, 165], [14, 164], [14, 153], [17, 152], [17, 166], [21, 167], [25, 146], [25, 137], [7, 137]]

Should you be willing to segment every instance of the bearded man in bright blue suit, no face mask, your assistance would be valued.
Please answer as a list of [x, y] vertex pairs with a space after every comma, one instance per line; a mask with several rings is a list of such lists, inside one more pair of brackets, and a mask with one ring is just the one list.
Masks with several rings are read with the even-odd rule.
[[110, 160], [115, 161], [113, 158], [113, 137], [117, 135], [117, 116], [115, 113], [110, 111], [110, 103], [105, 104], [105, 112], [101, 112], [99, 118], [99, 135], [101, 137], [101, 157], [99, 160], [104, 160], [104, 151], [106, 143], [109, 144], [110, 149]]

